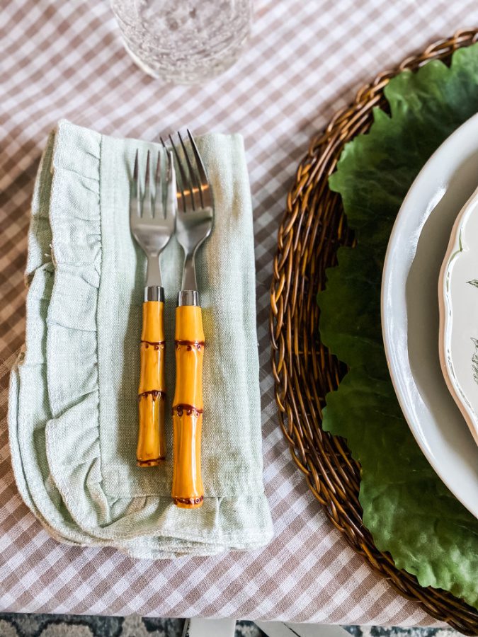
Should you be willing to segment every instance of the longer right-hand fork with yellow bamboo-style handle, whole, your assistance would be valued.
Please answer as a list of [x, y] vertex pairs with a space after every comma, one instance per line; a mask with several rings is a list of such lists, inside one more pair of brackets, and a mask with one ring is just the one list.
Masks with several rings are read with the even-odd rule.
[[[186, 144], [178, 133], [182, 154], [169, 141], [178, 166], [176, 239], [184, 251], [183, 282], [176, 307], [176, 389], [173, 398], [173, 486], [178, 507], [203, 504], [201, 430], [203, 425], [204, 332], [195, 256], [210, 236], [214, 200], [210, 180], [193, 135]], [[162, 139], [161, 139], [162, 142]], [[164, 144], [164, 142], [163, 142]], [[189, 147], [189, 148], [188, 148]]]

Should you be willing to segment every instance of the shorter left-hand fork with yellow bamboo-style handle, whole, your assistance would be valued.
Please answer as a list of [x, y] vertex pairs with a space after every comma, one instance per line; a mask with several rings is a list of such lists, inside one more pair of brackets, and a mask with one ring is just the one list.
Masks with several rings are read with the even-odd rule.
[[[159, 255], [174, 232], [176, 218], [176, 173], [171, 152], [162, 166], [159, 151], [156, 167], [148, 151], [144, 182], [138, 151], [130, 184], [130, 229], [147, 256], [141, 333], [141, 373], [138, 388], [138, 466], [154, 466], [166, 458], [164, 378], [164, 288], [161, 286]], [[152, 177], [154, 171], [154, 177]], [[142, 187], [144, 183], [144, 187]]]

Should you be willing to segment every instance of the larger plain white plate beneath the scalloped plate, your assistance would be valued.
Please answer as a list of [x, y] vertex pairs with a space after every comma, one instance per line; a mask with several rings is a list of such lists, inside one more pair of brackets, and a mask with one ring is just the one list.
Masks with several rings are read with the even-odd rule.
[[433, 469], [475, 517], [478, 447], [440, 369], [438, 277], [453, 224], [477, 183], [474, 115], [443, 142], [411, 185], [382, 277], [382, 331], [400, 406]]

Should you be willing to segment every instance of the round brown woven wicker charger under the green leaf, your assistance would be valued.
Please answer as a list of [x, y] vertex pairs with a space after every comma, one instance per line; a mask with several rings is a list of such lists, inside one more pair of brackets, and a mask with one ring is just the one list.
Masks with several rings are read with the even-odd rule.
[[370, 128], [372, 108], [387, 109], [383, 90], [394, 75], [431, 59], [448, 63], [453, 51], [477, 40], [478, 29], [460, 31], [408, 57], [394, 71], [385, 71], [363, 86], [353, 104], [336, 113], [312, 140], [288, 195], [271, 287], [275, 398], [295, 464], [331, 522], [372, 568], [428, 614], [469, 635], [478, 633], [478, 612], [449, 592], [421, 587], [413, 575], [394, 566], [389, 554], [378, 551], [363, 527], [358, 502], [360, 466], [343, 439], [321, 430], [324, 396], [337, 387], [346, 368], [320, 342], [316, 295], [324, 287], [325, 269], [336, 263], [338, 246], [353, 241], [341, 198], [327, 184], [343, 145]]

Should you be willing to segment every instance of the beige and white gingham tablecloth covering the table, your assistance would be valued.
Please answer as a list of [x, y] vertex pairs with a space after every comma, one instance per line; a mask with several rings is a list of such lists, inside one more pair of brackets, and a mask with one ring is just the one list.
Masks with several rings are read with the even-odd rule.
[[309, 493], [278, 427], [269, 365], [269, 286], [278, 223], [312, 135], [357, 88], [429, 42], [478, 22], [474, 1], [261, 0], [235, 67], [203, 87], [137, 69], [106, 1], [13, 0], [0, 11], [1, 408], [23, 343], [28, 207], [47, 132], [61, 117], [154, 139], [188, 125], [241, 132], [256, 236], [267, 549], [135, 561], [57, 544], [22, 503], [0, 425], [0, 611], [233, 616], [343, 624], [433, 621], [348, 548]]

